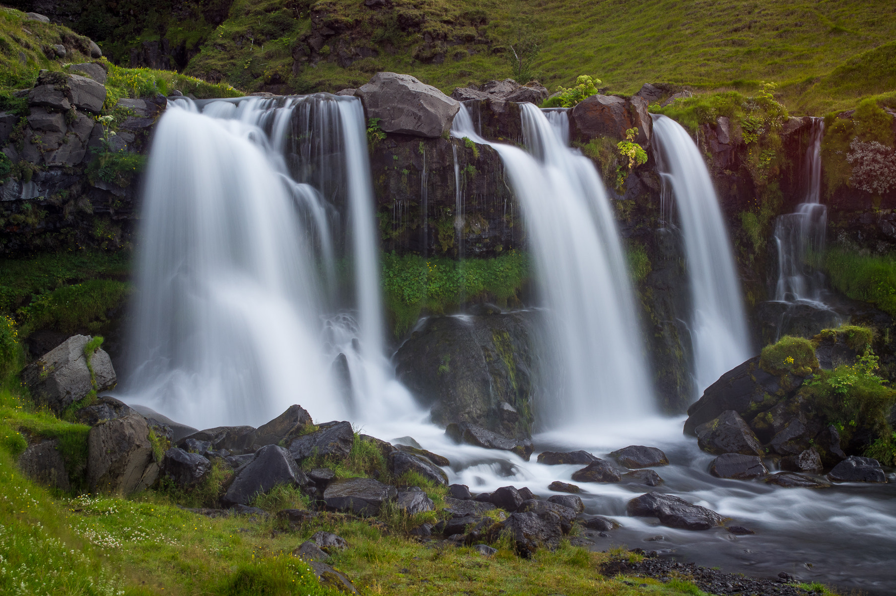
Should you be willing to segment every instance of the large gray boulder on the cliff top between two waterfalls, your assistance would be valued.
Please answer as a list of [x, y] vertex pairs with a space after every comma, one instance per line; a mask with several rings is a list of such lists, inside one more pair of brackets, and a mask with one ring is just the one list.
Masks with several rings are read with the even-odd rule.
[[380, 118], [380, 128], [387, 133], [442, 136], [461, 109], [457, 100], [409, 74], [376, 73], [355, 95], [367, 117]]

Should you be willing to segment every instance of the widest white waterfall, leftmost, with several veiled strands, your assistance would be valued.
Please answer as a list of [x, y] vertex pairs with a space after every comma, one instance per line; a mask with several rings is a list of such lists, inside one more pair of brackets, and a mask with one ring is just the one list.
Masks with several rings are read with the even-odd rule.
[[146, 179], [130, 401], [199, 428], [414, 409], [383, 356], [358, 99], [178, 99]]

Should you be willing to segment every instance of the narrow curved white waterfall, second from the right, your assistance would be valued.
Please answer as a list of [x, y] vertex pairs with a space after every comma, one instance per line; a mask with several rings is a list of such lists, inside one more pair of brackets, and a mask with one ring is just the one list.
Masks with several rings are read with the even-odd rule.
[[690, 321], [694, 376], [702, 393], [751, 356], [740, 283], [719, 200], [700, 150], [685, 129], [668, 117], [653, 117], [653, 138], [685, 239], [694, 304]]

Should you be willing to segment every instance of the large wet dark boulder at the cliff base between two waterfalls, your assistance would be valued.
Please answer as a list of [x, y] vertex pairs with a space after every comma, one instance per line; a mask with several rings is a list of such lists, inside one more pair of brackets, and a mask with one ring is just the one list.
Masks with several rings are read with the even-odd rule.
[[536, 316], [430, 317], [395, 353], [396, 374], [435, 424], [528, 438]]

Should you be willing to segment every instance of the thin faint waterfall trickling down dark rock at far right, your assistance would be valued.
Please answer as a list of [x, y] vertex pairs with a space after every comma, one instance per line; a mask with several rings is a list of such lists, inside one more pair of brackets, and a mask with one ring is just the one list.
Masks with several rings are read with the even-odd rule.
[[778, 249], [778, 282], [775, 300], [823, 305], [824, 276], [809, 263], [812, 255], [824, 250], [827, 208], [820, 203], [822, 186], [822, 138], [824, 120], [812, 118], [809, 145], [803, 159], [806, 197], [797, 211], [775, 220], [775, 246]]

